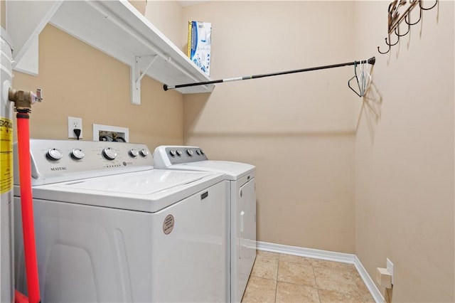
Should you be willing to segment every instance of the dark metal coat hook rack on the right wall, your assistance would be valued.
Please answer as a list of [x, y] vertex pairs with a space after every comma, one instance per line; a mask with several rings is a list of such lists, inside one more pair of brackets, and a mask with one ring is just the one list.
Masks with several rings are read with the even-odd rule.
[[[389, 4], [389, 18], [388, 18], [388, 35], [385, 38], [385, 44], [387, 44], [388, 49], [385, 52], [382, 52], [378, 46], [378, 52], [385, 54], [390, 52], [392, 46], [395, 46], [400, 42], [400, 37], [406, 36], [410, 32], [411, 26], [416, 25], [422, 20], [422, 11], [429, 11], [437, 6], [438, 0], [435, 0], [434, 4], [431, 7], [424, 7], [423, 0], [395, 0]], [[411, 11], [419, 7], [419, 19], [417, 21], [411, 21]], [[400, 12], [401, 11], [401, 12]], [[400, 33], [400, 23], [405, 21], [407, 24], [406, 33]], [[392, 43], [391, 36], [395, 33], [396, 41]]]

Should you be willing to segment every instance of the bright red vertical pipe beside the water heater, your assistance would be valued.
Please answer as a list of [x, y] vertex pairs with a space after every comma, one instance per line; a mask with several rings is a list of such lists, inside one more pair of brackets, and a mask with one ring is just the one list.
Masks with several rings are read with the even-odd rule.
[[28, 302], [39, 303], [40, 285], [38, 263], [36, 262], [35, 226], [33, 223], [33, 198], [31, 191], [30, 125], [28, 110], [18, 110], [17, 144], [21, 182], [21, 213], [23, 229], [23, 250], [26, 260]]

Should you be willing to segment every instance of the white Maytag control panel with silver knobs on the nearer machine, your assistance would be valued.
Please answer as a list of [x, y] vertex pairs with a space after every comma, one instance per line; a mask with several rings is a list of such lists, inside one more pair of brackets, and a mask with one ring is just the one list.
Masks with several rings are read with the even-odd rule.
[[[17, 143], [14, 144], [14, 184], [19, 184]], [[145, 144], [77, 140], [30, 140], [32, 185], [51, 184], [152, 169]]]

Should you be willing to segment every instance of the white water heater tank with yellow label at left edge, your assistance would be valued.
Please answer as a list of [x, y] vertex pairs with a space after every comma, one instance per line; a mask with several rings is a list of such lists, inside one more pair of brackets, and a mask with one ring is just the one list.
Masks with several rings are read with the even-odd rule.
[[0, 302], [14, 302], [12, 47], [4, 28], [0, 37]]

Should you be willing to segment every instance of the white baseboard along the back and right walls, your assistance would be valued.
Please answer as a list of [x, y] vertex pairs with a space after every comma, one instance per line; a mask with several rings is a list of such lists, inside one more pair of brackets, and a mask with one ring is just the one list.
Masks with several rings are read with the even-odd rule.
[[313, 257], [315, 259], [353, 264], [355, 266], [355, 269], [358, 271], [358, 274], [362, 278], [363, 282], [365, 283], [366, 287], [370, 291], [370, 294], [373, 296], [373, 299], [375, 299], [375, 302], [377, 303], [385, 302], [384, 297], [382, 297], [382, 294], [380, 293], [378, 287], [376, 287], [375, 282], [373, 282], [370, 275], [368, 275], [368, 272], [365, 270], [365, 267], [363, 267], [362, 262], [360, 262], [356, 255], [343, 252], [331, 252], [328, 250], [314, 250], [312, 248], [299, 248], [296, 246], [274, 244], [260, 241], [257, 241], [256, 244], [258, 250], [279, 252], [287, 255], [299, 255], [301, 257]]

